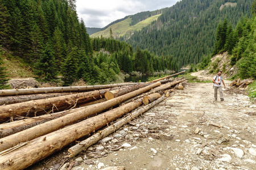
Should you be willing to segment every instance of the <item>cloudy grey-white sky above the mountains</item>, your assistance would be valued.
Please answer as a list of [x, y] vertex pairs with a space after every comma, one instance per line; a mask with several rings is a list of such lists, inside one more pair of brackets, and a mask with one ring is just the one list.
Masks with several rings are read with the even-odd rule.
[[127, 15], [142, 11], [154, 11], [171, 7], [179, 0], [77, 0], [79, 19], [84, 19], [86, 27], [102, 28]]

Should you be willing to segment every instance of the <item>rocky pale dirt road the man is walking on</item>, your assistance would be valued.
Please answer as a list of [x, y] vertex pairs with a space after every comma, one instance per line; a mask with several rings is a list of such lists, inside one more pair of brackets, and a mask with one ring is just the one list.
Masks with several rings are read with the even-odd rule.
[[187, 83], [109, 142], [78, 155], [82, 162], [72, 169], [255, 169], [256, 105], [245, 95], [224, 91], [224, 98], [213, 100], [212, 83]]

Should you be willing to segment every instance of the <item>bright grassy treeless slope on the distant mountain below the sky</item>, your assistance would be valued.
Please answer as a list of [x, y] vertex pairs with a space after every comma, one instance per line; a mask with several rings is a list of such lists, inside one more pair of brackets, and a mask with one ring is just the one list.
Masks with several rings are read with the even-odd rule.
[[146, 27], [147, 25], [154, 22], [156, 19], [159, 18], [160, 15], [161, 14], [151, 16], [132, 26], [130, 26], [132, 23], [132, 18], [131, 16], [129, 16], [127, 19], [122, 20], [121, 22], [110, 25], [108, 28], [104, 29], [104, 31], [93, 33], [92, 35], [90, 35], [90, 37], [100, 37], [101, 35], [103, 37], [109, 37], [110, 28], [112, 29], [114, 38], [120, 36], [129, 37], [135, 31], [141, 31], [143, 27]]

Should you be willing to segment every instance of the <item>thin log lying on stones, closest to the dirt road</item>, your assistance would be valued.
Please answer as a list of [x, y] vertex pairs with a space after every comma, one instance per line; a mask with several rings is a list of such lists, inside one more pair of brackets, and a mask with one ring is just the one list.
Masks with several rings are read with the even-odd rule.
[[144, 107], [139, 108], [137, 111], [134, 111], [129, 116], [126, 116], [125, 118], [122, 118], [122, 120], [119, 120], [118, 122], [115, 122], [113, 125], [109, 126], [108, 128], [99, 131], [98, 133], [92, 135], [92, 137], [89, 137], [85, 139], [85, 141], [82, 141], [78, 143], [77, 145], [69, 148], [69, 158], [79, 154], [81, 151], [86, 150], [89, 146], [92, 146], [94, 143], [97, 143], [100, 141], [100, 139], [107, 137], [108, 135], [112, 134], [117, 129], [121, 128], [123, 125], [127, 124], [129, 121], [133, 120], [135, 117], [138, 117], [142, 113], [148, 111], [150, 108], [154, 107], [156, 104], [159, 104], [164, 100], [164, 97], [160, 97], [158, 100], [145, 105]]

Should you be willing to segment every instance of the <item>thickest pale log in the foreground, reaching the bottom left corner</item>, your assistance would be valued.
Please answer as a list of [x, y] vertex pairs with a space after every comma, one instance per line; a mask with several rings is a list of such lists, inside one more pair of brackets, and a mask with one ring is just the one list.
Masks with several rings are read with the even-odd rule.
[[0, 169], [27, 168], [54, 152], [59, 151], [61, 148], [69, 145], [69, 143], [110, 124], [110, 122], [139, 107], [141, 104], [142, 100], [138, 99], [111, 111], [78, 122], [77, 124], [38, 137], [27, 143], [27, 145], [2, 155], [0, 159]]

